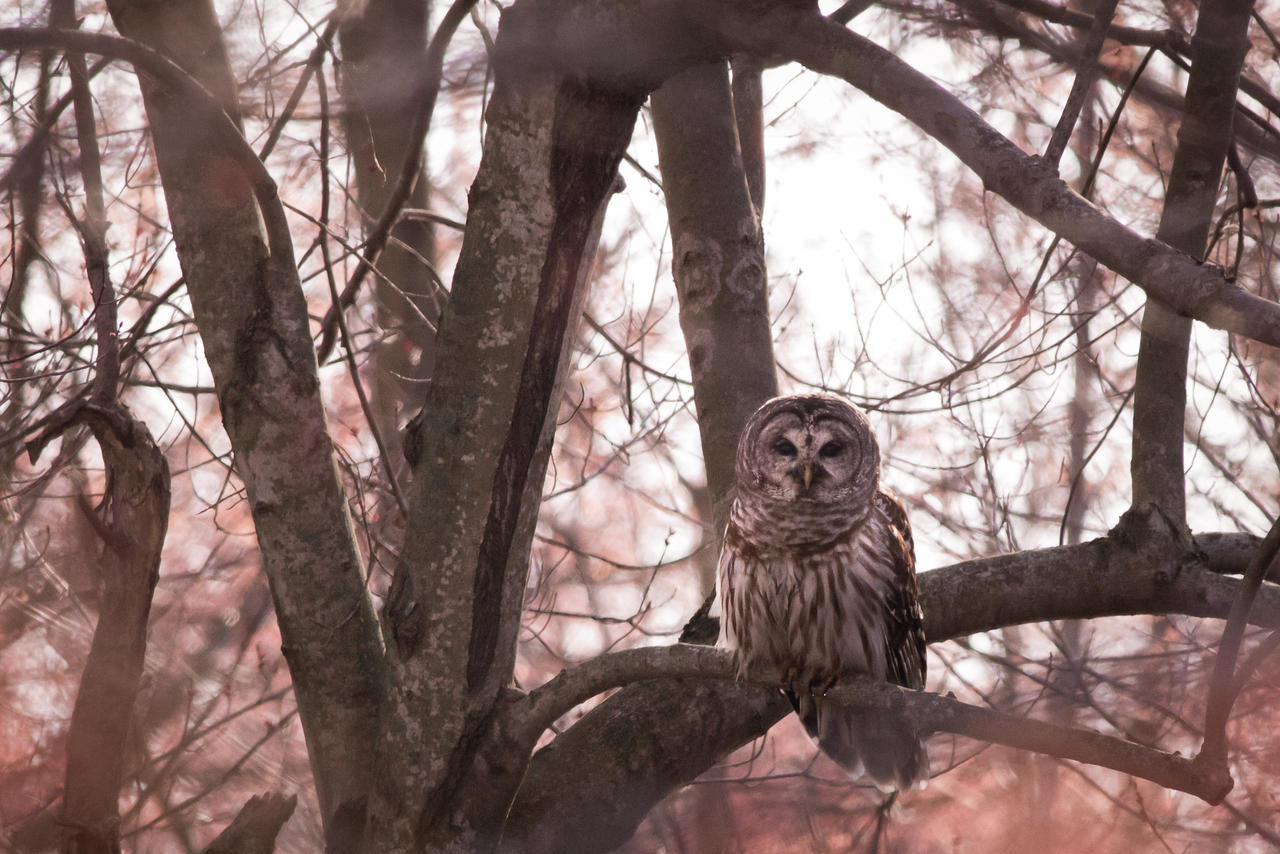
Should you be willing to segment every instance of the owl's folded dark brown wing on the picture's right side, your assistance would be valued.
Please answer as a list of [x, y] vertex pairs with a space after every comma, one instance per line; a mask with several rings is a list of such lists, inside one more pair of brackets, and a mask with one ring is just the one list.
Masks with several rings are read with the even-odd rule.
[[888, 551], [893, 558], [893, 589], [884, 604], [888, 677], [905, 688], [924, 688], [924, 615], [915, 579], [911, 524], [897, 495], [881, 489], [876, 508], [888, 520]]

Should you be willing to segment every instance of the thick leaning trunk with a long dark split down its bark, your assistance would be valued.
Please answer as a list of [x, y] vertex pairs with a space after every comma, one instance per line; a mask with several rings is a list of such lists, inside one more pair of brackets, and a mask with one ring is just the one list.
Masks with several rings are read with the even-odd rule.
[[415, 485], [388, 602], [394, 679], [376, 850], [492, 845], [518, 784], [525, 758], [506, 767], [484, 745], [515, 662], [568, 333], [643, 97], [531, 68], [507, 44], [520, 20], [504, 15], [498, 40], [484, 157], [436, 344], [454, 369], [431, 383], [415, 476], [429, 488]]

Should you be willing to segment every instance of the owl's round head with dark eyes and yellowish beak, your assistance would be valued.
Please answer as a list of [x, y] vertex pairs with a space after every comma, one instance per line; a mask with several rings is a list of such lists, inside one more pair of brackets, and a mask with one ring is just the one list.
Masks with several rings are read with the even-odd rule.
[[869, 507], [879, 446], [863, 411], [838, 397], [776, 397], [742, 429], [737, 481], [740, 492], [799, 507]]

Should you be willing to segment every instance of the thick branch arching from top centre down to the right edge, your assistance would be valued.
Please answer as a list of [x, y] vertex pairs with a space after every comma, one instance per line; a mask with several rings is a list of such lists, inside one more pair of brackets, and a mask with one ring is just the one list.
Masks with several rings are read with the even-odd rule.
[[735, 52], [799, 61], [838, 77], [913, 122], [1004, 197], [1050, 230], [1139, 286], [1174, 312], [1280, 346], [1280, 305], [1229, 282], [1216, 268], [1123, 225], [1088, 204], [1039, 157], [1028, 155], [959, 99], [874, 42], [781, 0], [682, 4], [550, 4], [512, 9], [532, 19], [521, 33], [550, 68], [657, 87], [692, 64]]

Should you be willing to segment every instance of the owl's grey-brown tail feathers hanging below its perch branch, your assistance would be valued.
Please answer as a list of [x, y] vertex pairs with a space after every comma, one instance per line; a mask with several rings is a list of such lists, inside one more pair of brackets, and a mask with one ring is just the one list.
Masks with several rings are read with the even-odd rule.
[[884, 712], [851, 709], [822, 698], [813, 703], [812, 714], [801, 713], [805, 729], [822, 752], [850, 776], [859, 777], [865, 772], [881, 791], [923, 789], [929, 781], [929, 754], [924, 740], [906, 721]]

